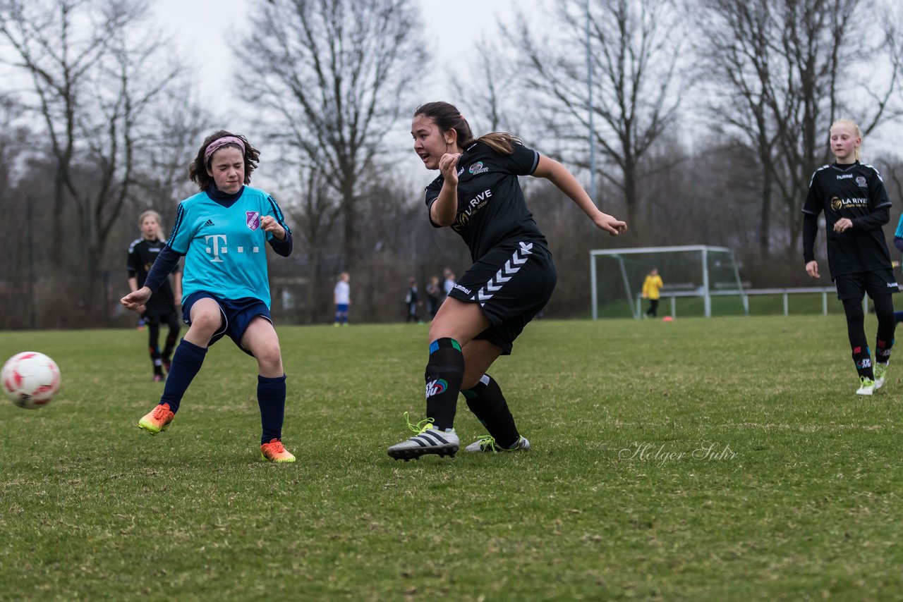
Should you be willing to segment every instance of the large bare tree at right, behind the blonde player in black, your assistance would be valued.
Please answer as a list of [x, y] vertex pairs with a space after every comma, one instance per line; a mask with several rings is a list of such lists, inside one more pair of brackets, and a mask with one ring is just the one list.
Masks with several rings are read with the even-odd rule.
[[869, 134], [900, 115], [897, 22], [863, 18], [877, 10], [864, 0], [700, 0], [700, 8], [709, 106], [760, 172], [759, 255], [768, 257], [776, 218], [792, 254], [808, 181], [829, 158], [828, 125], [852, 116]]

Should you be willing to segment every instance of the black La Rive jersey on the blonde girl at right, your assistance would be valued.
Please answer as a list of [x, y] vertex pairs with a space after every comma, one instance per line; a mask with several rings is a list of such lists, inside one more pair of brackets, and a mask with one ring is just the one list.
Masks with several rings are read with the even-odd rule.
[[[883, 209], [880, 212], [883, 214], [889, 208], [890, 199], [884, 190], [884, 182], [871, 165], [833, 163], [815, 171], [809, 182], [803, 212], [817, 216], [824, 210], [832, 280], [847, 273], [891, 266], [881, 229], [887, 220], [876, 221], [877, 217], [873, 215], [876, 209]], [[845, 232], [834, 232], [834, 224], [841, 218], [851, 219], [853, 227]], [[806, 251], [811, 252], [811, 248], [804, 248], [804, 253]]]

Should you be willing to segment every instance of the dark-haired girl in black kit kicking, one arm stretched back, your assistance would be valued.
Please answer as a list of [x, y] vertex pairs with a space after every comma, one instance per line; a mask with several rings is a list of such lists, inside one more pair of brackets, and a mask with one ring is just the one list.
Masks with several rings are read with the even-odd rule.
[[602, 213], [570, 171], [526, 148], [511, 134], [474, 139], [457, 108], [445, 102], [418, 107], [411, 127], [414, 152], [440, 175], [426, 187], [434, 227], [452, 227], [470, 247], [474, 264], [455, 283], [430, 325], [426, 416], [408, 426], [417, 434], [393, 445], [396, 459], [453, 456], [458, 394], [489, 431], [467, 451], [529, 449], [501, 389], [486, 371], [511, 353], [515, 338], [545, 306], [557, 275], [545, 236], [526, 208], [517, 176], [552, 181], [612, 236], [627, 224]]

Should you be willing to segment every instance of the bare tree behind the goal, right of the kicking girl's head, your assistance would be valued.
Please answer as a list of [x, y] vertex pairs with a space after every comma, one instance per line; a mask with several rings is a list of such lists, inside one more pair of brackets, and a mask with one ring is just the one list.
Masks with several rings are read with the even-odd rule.
[[[643, 157], [677, 116], [681, 58], [677, 13], [671, 0], [566, 0], [555, 3], [549, 21], [561, 32], [539, 41], [519, 15], [515, 39], [523, 57], [524, 86], [545, 104], [548, 125], [579, 148], [586, 160], [588, 135], [604, 162], [600, 171], [623, 194], [628, 222], [640, 204]], [[584, 35], [589, 28], [589, 35]], [[588, 63], [587, 56], [590, 57]], [[588, 69], [588, 65], [591, 69]], [[593, 76], [589, 85], [588, 71]], [[590, 115], [595, 117], [592, 128]]]

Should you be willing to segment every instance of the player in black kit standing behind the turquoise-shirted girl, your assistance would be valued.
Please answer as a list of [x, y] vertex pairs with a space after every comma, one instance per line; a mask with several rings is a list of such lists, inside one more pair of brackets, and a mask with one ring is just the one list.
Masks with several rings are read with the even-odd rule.
[[[144, 286], [147, 273], [166, 241], [160, 233], [160, 214], [156, 211], [144, 211], [138, 217], [138, 227], [141, 228], [141, 238], [135, 239], [128, 247], [128, 286], [131, 292], [135, 292]], [[147, 326], [147, 347], [151, 356], [151, 364], [154, 366], [154, 381], [163, 381], [163, 369], [169, 372], [172, 349], [175, 348], [179, 338], [179, 312], [176, 305], [182, 305], [182, 273], [175, 273], [175, 292], [172, 292], [169, 279], [154, 295], [144, 310], [140, 310], [144, 323]], [[169, 327], [163, 351], [160, 350], [160, 325], [164, 323]]]

